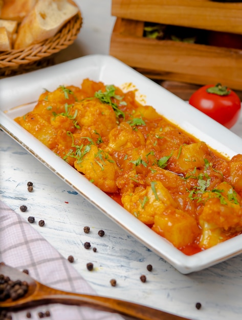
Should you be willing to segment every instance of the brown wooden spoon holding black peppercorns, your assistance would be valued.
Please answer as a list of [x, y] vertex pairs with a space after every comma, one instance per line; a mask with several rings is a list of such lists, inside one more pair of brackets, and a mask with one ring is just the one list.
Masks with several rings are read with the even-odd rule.
[[0, 309], [18, 310], [44, 304], [61, 303], [65, 305], [90, 306], [99, 310], [118, 312], [123, 315], [142, 320], [186, 319], [178, 315], [152, 309], [144, 305], [139, 305], [128, 301], [106, 298], [105, 296], [87, 295], [54, 289], [39, 283], [26, 273], [3, 263], [0, 264], [0, 274], [8, 276], [13, 281], [26, 281], [29, 285], [28, 292], [22, 298], [19, 298], [15, 301], [12, 301], [10, 298], [5, 301], [1, 301]]

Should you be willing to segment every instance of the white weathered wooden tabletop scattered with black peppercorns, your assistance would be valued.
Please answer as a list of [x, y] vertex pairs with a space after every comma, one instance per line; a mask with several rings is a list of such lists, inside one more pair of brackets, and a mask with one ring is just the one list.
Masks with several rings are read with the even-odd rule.
[[[108, 54], [114, 25], [111, 0], [76, 1], [83, 14], [77, 41], [58, 62], [86, 54]], [[232, 131], [242, 138], [242, 116]], [[242, 146], [241, 146], [242, 150]], [[241, 151], [242, 152], [242, 151]], [[23, 216], [45, 220], [38, 230], [64, 257], [73, 255], [73, 266], [100, 295], [130, 300], [199, 320], [238, 319], [242, 314], [242, 255], [190, 275], [182, 275], [137, 242], [121, 227], [67, 186], [4, 132], [0, 132], [0, 197]], [[32, 181], [34, 191], [27, 191]], [[27, 212], [19, 210], [26, 204]], [[89, 234], [83, 227], [90, 226]], [[98, 231], [105, 231], [104, 237]], [[144, 235], [145, 236], [145, 235]], [[92, 247], [84, 248], [84, 242]], [[94, 271], [86, 263], [94, 263]], [[147, 271], [151, 264], [153, 270]], [[147, 282], [142, 283], [144, 274]], [[112, 287], [109, 280], [117, 280]], [[202, 308], [195, 308], [196, 302]]]

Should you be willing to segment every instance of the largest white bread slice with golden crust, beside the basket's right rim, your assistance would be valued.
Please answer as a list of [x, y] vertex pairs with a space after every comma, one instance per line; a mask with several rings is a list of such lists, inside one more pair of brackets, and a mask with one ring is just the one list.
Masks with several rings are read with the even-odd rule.
[[14, 49], [53, 37], [78, 11], [78, 7], [68, 0], [39, 0], [21, 22]]

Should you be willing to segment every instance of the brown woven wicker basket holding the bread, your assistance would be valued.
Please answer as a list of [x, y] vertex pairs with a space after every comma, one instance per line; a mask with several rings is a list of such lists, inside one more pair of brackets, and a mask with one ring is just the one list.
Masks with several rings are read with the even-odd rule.
[[54, 54], [74, 42], [82, 25], [78, 12], [53, 37], [28, 48], [4, 51], [0, 54], [0, 78], [14, 76], [54, 64]]

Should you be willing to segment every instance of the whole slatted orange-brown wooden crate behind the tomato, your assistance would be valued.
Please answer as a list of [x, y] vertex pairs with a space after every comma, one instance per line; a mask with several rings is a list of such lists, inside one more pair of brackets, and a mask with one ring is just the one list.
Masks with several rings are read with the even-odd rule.
[[[167, 7], [170, 9], [170, 11], [168, 10], [170, 12], [169, 18], [166, 17], [165, 22], [163, 16], [166, 16], [166, 14], [164, 11], [160, 12], [161, 6], [164, 6], [164, 4], [166, 4], [165, 12], [168, 10]], [[204, 10], [202, 10], [202, 5]], [[234, 9], [236, 5], [236, 8], [240, 9], [239, 16], [237, 10]], [[208, 19], [198, 18], [198, 15], [201, 15], [202, 11], [206, 11], [207, 8], [212, 10], [210, 15], [213, 15], [213, 10], [215, 12], [219, 11], [218, 7], [221, 12], [224, 8], [233, 8], [230, 9], [231, 14], [227, 14], [226, 17], [234, 20], [235, 24], [240, 21], [239, 27], [242, 33], [241, 3], [228, 4], [228, 7], [225, 7], [225, 4], [208, 0], [150, 0], [149, 2], [143, 0], [113, 0], [112, 13], [117, 16], [117, 19], [111, 36], [109, 53], [152, 79], [181, 81], [199, 85], [221, 82], [233, 89], [241, 90], [242, 50], [172, 40], [157, 40], [143, 36], [145, 21], [161, 24], [173, 24], [174, 21], [179, 26], [185, 26], [186, 23], [187, 27], [198, 28], [199, 25], [202, 28], [203, 25], [205, 29], [213, 28], [211, 30], [222, 31], [222, 27], [219, 23], [216, 25], [215, 20], [212, 22]], [[175, 8], [177, 8], [177, 11]], [[194, 10], [196, 18], [179, 19], [182, 16], [181, 12], [185, 12], [185, 8]], [[177, 18], [175, 18], [175, 12], [177, 12]], [[121, 17], [121, 15], [124, 17]], [[130, 16], [133, 19], [127, 18]], [[191, 14], [188, 16], [190, 17]], [[200, 20], [200, 22], [197, 20]], [[196, 25], [192, 25], [195, 21], [197, 21]], [[222, 18], [219, 21], [222, 21]], [[218, 26], [218, 29], [216, 29], [216, 26]], [[223, 31], [232, 32], [232, 22], [228, 24], [227, 20], [224, 20], [223, 26]]]

